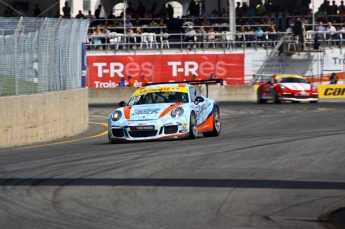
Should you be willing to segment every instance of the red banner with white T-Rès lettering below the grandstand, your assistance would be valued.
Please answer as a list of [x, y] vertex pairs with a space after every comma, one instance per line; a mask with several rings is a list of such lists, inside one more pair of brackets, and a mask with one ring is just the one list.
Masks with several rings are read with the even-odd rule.
[[150, 82], [208, 79], [213, 72], [225, 84], [244, 84], [244, 54], [150, 54], [87, 56], [89, 88], [117, 87], [131, 75], [140, 86], [141, 75]]

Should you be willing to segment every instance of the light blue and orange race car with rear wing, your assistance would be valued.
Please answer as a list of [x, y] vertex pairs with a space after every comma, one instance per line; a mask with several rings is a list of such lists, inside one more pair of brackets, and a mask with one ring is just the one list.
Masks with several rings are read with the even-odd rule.
[[208, 89], [208, 84], [222, 82], [221, 79], [170, 82], [137, 89], [127, 103], [120, 102], [120, 108], [109, 115], [109, 142], [195, 139], [198, 133], [218, 136], [219, 107], [193, 85], [206, 84]]

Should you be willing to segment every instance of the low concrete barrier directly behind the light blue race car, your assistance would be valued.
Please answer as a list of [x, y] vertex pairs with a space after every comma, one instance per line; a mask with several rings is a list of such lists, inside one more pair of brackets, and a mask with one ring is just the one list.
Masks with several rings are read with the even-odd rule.
[[[200, 91], [206, 95], [206, 87]], [[90, 104], [117, 104], [128, 101], [136, 88], [90, 88]], [[217, 102], [221, 101], [255, 101], [255, 86], [209, 86], [208, 97]]]

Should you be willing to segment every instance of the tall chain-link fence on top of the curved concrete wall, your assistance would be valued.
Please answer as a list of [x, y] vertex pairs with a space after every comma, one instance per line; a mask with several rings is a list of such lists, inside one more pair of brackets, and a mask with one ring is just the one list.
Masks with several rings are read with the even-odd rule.
[[88, 20], [0, 18], [0, 96], [81, 87]]

